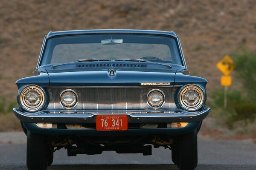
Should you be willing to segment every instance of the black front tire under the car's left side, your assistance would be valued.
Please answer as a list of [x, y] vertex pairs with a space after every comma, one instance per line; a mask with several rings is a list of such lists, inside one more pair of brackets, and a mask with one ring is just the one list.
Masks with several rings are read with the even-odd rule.
[[47, 137], [27, 133], [27, 168], [29, 170], [46, 170], [48, 164]]

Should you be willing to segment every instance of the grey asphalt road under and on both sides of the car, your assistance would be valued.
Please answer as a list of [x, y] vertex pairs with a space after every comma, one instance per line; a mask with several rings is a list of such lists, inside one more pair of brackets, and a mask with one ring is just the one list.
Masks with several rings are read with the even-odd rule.
[[[26, 144], [21, 138], [24, 136], [19, 137], [20, 142], [0, 144], [0, 170], [26, 170]], [[48, 170], [178, 169], [171, 161], [171, 151], [158, 148], [153, 149], [152, 156], [106, 151], [102, 155], [76, 157], [68, 157], [67, 151], [61, 149], [54, 153], [53, 164]], [[199, 137], [196, 170], [256, 170], [256, 144]]]

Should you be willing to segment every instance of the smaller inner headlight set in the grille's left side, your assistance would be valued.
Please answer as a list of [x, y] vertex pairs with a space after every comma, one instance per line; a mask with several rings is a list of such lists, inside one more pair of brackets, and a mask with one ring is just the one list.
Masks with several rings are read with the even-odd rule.
[[68, 89], [61, 92], [60, 104], [67, 109], [73, 108], [77, 104], [77, 94], [75, 91]]

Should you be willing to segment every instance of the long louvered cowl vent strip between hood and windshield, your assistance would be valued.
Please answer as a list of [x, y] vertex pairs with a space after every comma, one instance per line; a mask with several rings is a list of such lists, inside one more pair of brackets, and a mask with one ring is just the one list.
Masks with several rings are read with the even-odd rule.
[[97, 63], [97, 64], [77, 64], [78, 68], [95, 68], [95, 67], [117, 67], [117, 68], [145, 68], [145, 64], [125, 64], [125, 63]]

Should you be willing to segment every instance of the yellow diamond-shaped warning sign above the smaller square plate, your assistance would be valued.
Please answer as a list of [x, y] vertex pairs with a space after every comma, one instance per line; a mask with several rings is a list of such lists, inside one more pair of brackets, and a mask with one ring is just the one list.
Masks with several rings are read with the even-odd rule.
[[226, 55], [219, 61], [216, 65], [218, 69], [226, 76], [228, 76], [236, 67], [236, 64], [230, 58], [230, 56]]

